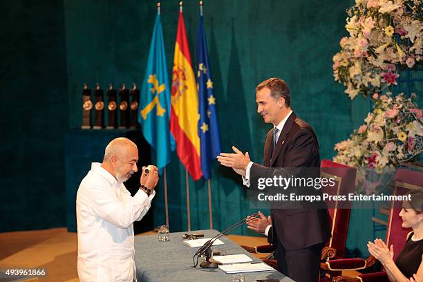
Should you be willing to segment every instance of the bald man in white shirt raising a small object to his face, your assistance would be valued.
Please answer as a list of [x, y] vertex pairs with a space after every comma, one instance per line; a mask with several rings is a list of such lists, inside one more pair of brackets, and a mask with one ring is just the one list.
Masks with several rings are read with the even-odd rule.
[[158, 169], [143, 167], [135, 196], [123, 182], [138, 171], [138, 149], [126, 138], [107, 145], [104, 160], [93, 162], [76, 200], [79, 281], [136, 281], [133, 222], [147, 214], [156, 191]]

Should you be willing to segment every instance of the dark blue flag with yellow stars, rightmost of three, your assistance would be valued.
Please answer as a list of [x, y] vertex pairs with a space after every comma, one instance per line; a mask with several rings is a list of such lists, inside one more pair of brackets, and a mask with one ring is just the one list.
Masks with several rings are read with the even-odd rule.
[[198, 86], [198, 136], [200, 136], [201, 171], [205, 179], [209, 180], [212, 160], [220, 153], [220, 135], [216, 115], [216, 97], [213, 95], [213, 80], [209, 68], [209, 55], [205, 38], [203, 15], [198, 23], [197, 41], [197, 86]]

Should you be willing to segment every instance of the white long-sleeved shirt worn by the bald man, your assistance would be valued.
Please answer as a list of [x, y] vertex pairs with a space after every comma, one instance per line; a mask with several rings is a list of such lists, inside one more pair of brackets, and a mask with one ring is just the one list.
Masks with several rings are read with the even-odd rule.
[[136, 281], [133, 222], [147, 214], [155, 194], [131, 197], [100, 163], [91, 164], [76, 200], [79, 281]]

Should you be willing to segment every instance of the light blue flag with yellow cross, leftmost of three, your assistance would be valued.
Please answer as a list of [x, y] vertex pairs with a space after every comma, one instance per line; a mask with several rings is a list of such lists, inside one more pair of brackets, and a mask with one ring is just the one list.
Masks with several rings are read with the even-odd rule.
[[169, 131], [170, 88], [160, 14], [156, 16], [154, 23], [149, 60], [140, 89], [139, 109], [138, 121], [141, 123], [142, 133], [155, 151], [153, 158], [156, 160], [153, 159], [153, 164], [162, 169], [171, 161], [175, 140]]

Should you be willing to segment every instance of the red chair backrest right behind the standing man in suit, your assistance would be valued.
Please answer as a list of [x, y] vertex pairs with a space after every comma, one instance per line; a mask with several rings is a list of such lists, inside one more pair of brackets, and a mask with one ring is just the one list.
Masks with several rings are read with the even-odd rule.
[[[323, 187], [322, 192], [330, 195], [354, 193], [355, 174], [356, 170], [353, 167], [338, 164], [331, 160], [322, 160], [321, 177], [335, 178], [335, 185]], [[344, 257], [351, 212], [350, 203], [342, 201], [342, 206], [339, 206], [338, 202], [332, 200], [327, 203], [332, 228], [328, 247], [334, 247], [337, 250], [335, 259]]]

